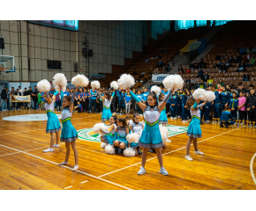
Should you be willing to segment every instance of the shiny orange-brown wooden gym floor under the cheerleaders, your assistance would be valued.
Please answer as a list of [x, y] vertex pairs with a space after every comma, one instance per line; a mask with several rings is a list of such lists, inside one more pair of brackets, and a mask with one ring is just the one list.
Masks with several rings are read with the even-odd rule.
[[[184, 159], [187, 136], [170, 138], [163, 149], [163, 176], [155, 153], [148, 153], [146, 171], [138, 176], [141, 156], [106, 155], [99, 142], [77, 140], [79, 171], [71, 153], [68, 166], [58, 166], [65, 157], [64, 143], [52, 153], [50, 135], [45, 133], [46, 121], [7, 121], [6, 116], [45, 113], [43, 111], [0, 112], [0, 189], [3, 190], [247, 190], [256, 189], [256, 129], [201, 126], [203, 137], [199, 149], [204, 156], [193, 154]], [[100, 114], [74, 113], [72, 124], [77, 130], [94, 127]], [[181, 120], [170, 125], [188, 126]], [[254, 181], [253, 181], [254, 179]], [[256, 181], [255, 181], [256, 182]]]

